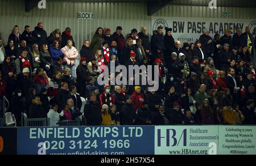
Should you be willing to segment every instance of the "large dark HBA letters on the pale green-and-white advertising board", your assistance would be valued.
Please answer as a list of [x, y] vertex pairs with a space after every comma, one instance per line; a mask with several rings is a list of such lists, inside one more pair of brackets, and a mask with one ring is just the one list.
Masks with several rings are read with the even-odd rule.
[[[162, 146], [179, 146], [181, 139], [183, 138], [183, 146], [187, 146], [187, 129], [184, 129], [180, 135], [176, 135], [175, 129], [166, 129], [166, 135], [161, 135], [161, 129], [158, 129], [158, 147], [161, 146], [161, 140], [164, 139], [166, 144]], [[179, 139], [179, 141], [178, 141]]]

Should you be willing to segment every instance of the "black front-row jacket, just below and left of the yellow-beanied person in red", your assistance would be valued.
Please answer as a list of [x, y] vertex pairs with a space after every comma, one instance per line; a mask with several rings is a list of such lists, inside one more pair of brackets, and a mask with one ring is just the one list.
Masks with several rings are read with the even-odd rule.
[[133, 111], [133, 105], [128, 103], [123, 105], [120, 118], [121, 125], [133, 125], [133, 120], [135, 120], [135, 112]]

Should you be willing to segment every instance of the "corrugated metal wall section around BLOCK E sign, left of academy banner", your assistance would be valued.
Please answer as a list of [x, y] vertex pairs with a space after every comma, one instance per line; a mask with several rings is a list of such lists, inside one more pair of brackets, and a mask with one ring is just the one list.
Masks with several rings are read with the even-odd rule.
[[[92, 39], [97, 27], [108, 27], [113, 32], [117, 25], [121, 25], [123, 34], [126, 35], [133, 28], [139, 31], [142, 26], [151, 26], [146, 5], [142, 3], [73, 3], [50, 0], [46, 3], [46, 9], [34, 8], [26, 13], [23, 1], [0, 0], [0, 33], [5, 43], [16, 24], [19, 26], [19, 31], [23, 32], [24, 25], [28, 24], [34, 29], [38, 22], [43, 22], [47, 35], [55, 28], [64, 31], [65, 27], [70, 27], [78, 49], [85, 39]], [[79, 20], [77, 12], [94, 12], [94, 20]]]

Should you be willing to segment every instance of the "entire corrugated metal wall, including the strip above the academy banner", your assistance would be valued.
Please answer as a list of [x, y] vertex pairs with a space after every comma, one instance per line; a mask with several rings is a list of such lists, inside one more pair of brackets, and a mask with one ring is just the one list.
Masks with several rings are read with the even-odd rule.
[[[32, 29], [38, 22], [43, 22], [47, 34], [55, 28], [64, 31], [71, 27], [72, 35], [78, 49], [85, 39], [92, 39], [97, 27], [108, 27], [115, 30], [117, 25], [123, 27], [126, 35], [133, 28], [148, 27], [150, 33], [151, 17], [147, 16], [146, 3], [123, 2], [72, 2], [46, 0], [47, 8], [34, 8], [25, 12], [23, 0], [0, 0], [0, 35], [5, 42], [14, 25], [19, 25], [20, 32], [24, 25]], [[196, 18], [222, 18], [222, 12], [232, 12], [234, 19], [255, 19], [255, 8], [218, 7], [210, 9], [206, 6], [168, 5], [156, 12], [153, 16], [176, 16]], [[79, 20], [77, 12], [94, 12], [94, 20]]]

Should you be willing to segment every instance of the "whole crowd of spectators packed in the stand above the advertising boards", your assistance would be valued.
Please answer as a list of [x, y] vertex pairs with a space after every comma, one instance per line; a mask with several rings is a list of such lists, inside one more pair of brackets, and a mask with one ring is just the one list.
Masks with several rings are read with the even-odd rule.
[[[0, 98], [10, 102], [7, 112], [20, 125], [28, 118], [78, 120], [80, 125], [255, 125], [255, 41], [250, 27], [231, 35], [210, 37], [209, 30], [195, 43], [178, 41], [172, 28], [158, 27], [150, 39], [147, 28], [122, 27], [112, 33], [97, 28], [79, 52], [71, 28], [47, 36], [44, 24], [34, 31], [18, 25], [7, 45], [0, 39]], [[77, 64], [77, 62], [79, 62]], [[110, 67], [158, 65], [158, 90], [149, 85], [111, 84], [120, 73], [109, 73], [101, 85], [98, 75]], [[147, 72], [147, 71], [146, 71]], [[143, 71], [134, 73], [142, 75]], [[86, 104], [82, 107], [82, 97]], [[84, 108], [84, 109], [81, 109]]]

